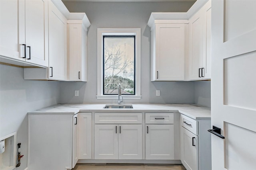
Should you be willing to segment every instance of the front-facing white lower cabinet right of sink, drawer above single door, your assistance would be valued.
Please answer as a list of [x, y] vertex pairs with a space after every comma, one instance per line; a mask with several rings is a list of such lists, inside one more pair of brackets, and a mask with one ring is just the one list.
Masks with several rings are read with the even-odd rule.
[[145, 113], [146, 159], [174, 159], [174, 113]]

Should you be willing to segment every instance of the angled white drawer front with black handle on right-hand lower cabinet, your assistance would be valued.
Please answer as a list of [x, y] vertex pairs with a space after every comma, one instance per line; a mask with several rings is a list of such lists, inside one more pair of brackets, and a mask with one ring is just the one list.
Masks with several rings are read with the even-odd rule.
[[198, 121], [196, 121], [195, 119], [192, 119], [188, 116], [180, 114], [180, 125], [188, 129], [190, 132], [194, 133], [195, 135], [198, 135]]

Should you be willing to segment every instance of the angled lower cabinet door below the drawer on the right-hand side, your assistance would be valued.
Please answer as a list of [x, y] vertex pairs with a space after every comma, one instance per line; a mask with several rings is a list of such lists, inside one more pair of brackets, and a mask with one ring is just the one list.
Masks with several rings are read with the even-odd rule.
[[198, 136], [181, 127], [181, 162], [187, 170], [198, 170]]

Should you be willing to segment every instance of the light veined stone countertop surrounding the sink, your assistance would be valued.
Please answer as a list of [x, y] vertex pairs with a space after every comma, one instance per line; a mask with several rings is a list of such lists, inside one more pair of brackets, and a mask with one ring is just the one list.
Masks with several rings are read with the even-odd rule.
[[105, 104], [57, 104], [28, 114], [76, 114], [78, 112], [180, 112], [193, 119], [210, 119], [210, 107], [194, 104], [132, 104], [133, 109], [104, 109]]

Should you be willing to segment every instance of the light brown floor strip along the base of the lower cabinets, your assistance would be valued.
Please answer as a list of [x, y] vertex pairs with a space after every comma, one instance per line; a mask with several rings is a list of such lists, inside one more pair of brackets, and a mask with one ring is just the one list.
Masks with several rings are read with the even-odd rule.
[[180, 164], [76, 164], [73, 170], [186, 170]]

